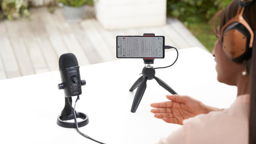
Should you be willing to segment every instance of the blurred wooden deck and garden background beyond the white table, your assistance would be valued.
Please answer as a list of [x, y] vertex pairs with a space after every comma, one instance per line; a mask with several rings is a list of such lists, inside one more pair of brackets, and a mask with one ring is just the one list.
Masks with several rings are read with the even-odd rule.
[[211, 52], [210, 19], [231, 0], [0, 0], [0, 80], [117, 60], [117, 35], [155, 33], [178, 49]]

